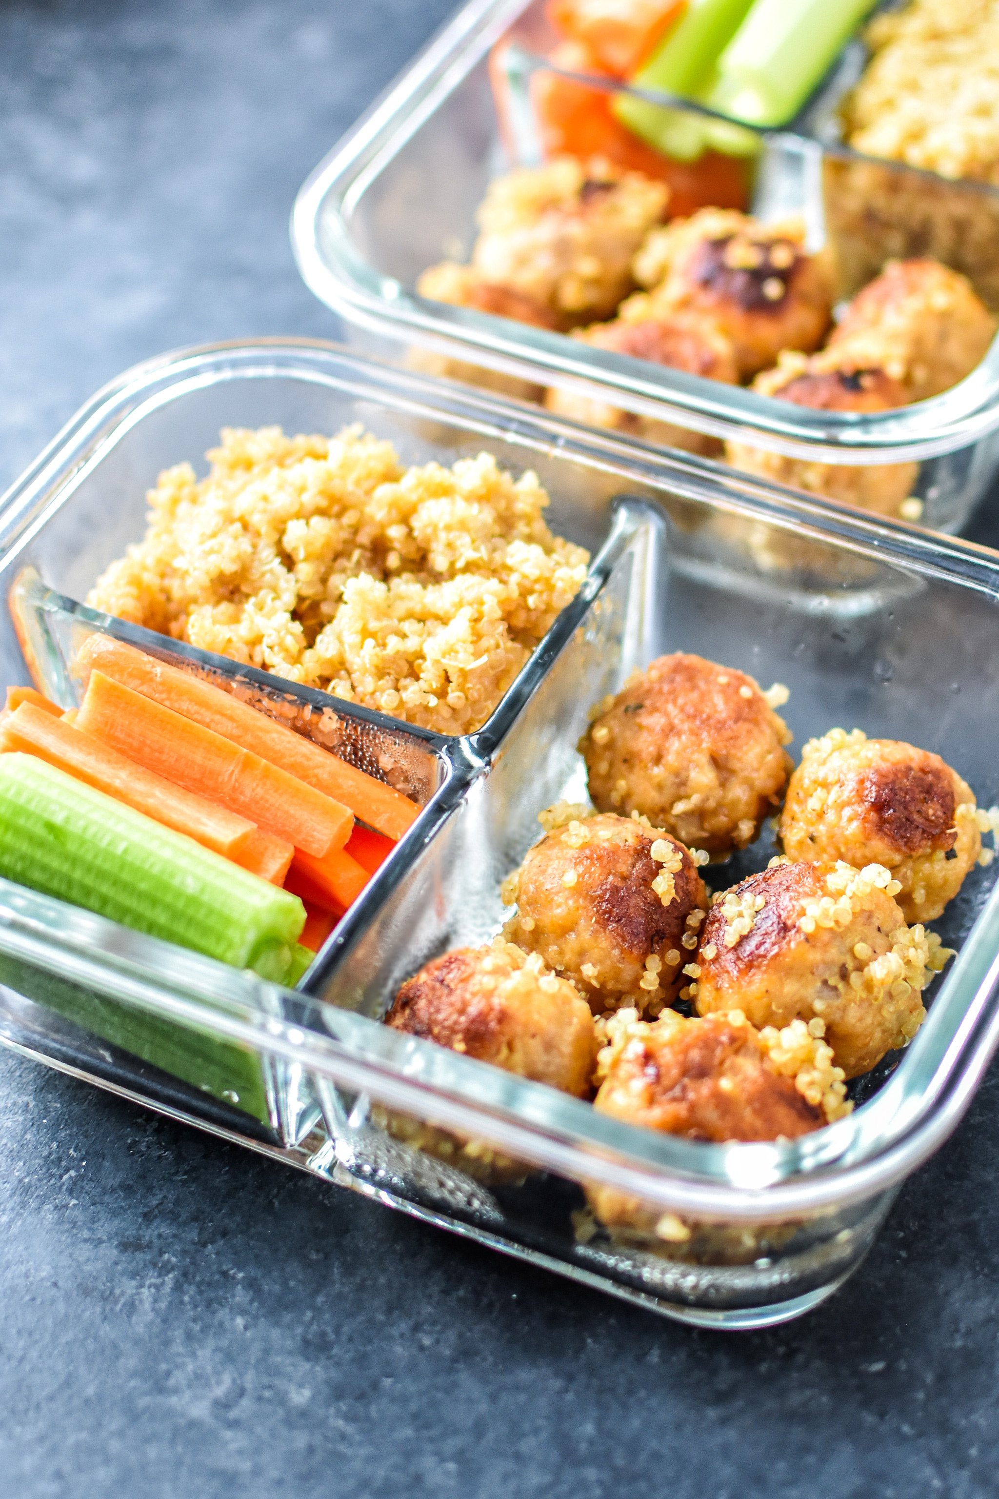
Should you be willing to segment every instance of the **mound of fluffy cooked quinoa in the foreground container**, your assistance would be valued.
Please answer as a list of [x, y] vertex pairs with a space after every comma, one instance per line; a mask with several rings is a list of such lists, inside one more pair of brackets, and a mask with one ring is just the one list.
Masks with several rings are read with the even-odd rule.
[[479, 729], [589, 562], [538, 475], [488, 453], [406, 468], [359, 426], [225, 429], [150, 490], [87, 603], [439, 733]]

